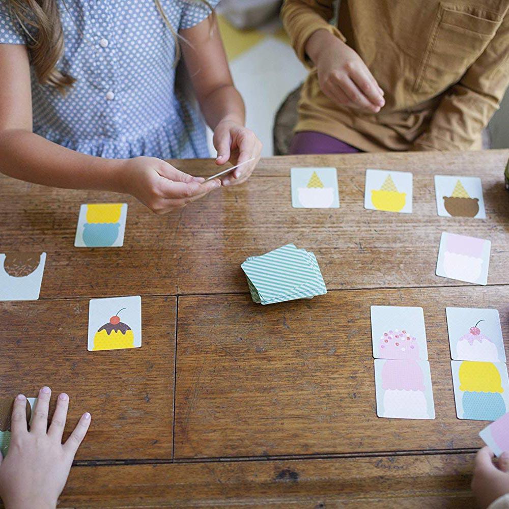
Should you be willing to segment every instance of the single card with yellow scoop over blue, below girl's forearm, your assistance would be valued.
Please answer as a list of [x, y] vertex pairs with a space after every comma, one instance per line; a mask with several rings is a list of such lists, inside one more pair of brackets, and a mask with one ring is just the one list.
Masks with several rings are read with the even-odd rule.
[[121, 247], [124, 245], [127, 203], [81, 205], [75, 247]]

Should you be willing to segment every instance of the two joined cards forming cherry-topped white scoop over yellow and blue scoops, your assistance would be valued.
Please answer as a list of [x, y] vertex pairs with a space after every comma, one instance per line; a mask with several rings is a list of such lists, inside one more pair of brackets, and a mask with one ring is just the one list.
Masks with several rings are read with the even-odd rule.
[[459, 419], [496, 420], [509, 410], [509, 378], [496, 309], [447, 307]]

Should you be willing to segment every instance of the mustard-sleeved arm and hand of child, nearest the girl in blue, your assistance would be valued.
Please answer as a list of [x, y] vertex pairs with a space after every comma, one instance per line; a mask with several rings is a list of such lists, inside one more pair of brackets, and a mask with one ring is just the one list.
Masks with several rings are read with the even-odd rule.
[[322, 92], [336, 104], [377, 113], [385, 104], [384, 93], [360, 56], [328, 23], [332, 15], [332, 0], [286, 0], [281, 11], [297, 56], [308, 67], [316, 66]]

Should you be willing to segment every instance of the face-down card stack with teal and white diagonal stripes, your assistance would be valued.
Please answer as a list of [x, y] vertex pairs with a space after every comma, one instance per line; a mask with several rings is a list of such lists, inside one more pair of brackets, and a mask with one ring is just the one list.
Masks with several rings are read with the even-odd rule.
[[310, 299], [327, 293], [315, 254], [294, 244], [249, 257], [241, 267], [256, 303]]

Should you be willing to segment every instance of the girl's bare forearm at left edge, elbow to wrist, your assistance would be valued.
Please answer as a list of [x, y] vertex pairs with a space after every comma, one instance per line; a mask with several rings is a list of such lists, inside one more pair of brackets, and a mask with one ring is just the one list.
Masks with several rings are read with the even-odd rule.
[[0, 132], [0, 172], [35, 184], [122, 192], [122, 162], [81, 154], [30, 131]]

